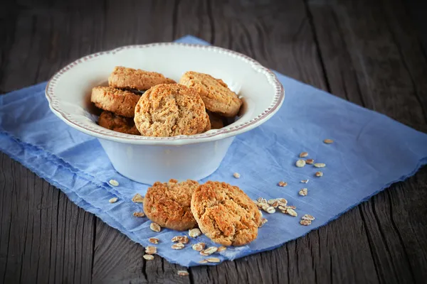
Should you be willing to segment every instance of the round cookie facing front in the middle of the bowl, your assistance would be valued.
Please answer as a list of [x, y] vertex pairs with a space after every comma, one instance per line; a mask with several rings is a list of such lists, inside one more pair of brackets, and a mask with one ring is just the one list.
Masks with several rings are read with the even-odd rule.
[[199, 94], [181, 84], [151, 87], [139, 99], [134, 121], [143, 136], [193, 135], [211, 127]]

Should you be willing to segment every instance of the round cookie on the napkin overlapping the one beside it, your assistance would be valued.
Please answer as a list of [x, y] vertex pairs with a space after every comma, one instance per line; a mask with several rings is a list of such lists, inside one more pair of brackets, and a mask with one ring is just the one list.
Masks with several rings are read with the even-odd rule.
[[199, 229], [224, 246], [242, 246], [258, 236], [261, 214], [243, 190], [226, 182], [206, 182], [194, 191], [191, 212]]

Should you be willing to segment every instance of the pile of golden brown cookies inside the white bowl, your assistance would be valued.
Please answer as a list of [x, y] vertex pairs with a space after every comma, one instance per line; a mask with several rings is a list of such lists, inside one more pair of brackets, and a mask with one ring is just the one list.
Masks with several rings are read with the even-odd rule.
[[220, 129], [241, 108], [226, 83], [189, 71], [179, 84], [157, 72], [115, 67], [108, 87], [95, 87], [98, 124], [122, 133], [168, 137]]

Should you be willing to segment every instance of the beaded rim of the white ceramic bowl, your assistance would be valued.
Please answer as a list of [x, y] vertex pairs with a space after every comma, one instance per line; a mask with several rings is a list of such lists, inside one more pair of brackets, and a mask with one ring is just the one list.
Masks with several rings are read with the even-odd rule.
[[[95, 129], [95, 128], [88, 127], [88, 125], [83, 124], [80, 121], [76, 121], [75, 119], [72, 119], [70, 117], [70, 114], [60, 109], [59, 99], [58, 97], [56, 97], [54, 88], [58, 80], [60, 80], [60, 77], [62, 77], [65, 74], [65, 72], [75, 67], [76, 65], [84, 64], [85, 62], [88, 62], [95, 58], [100, 58], [102, 56], [114, 55], [115, 53], [118, 53], [122, 50], [130, 49], [130, 48], [152, 48], [157, 46], [169, 46], [169, 45], [184, 46], [186, 48], [201, 48], [205, 50], [214, 51], [216, 53], [223, 53], [226, 55], [230, 55], [233, 58], [238, 58], [240, 60], [250, 63], [251, 67], [255, 71], [262, 72], [265, 75], [266, 80], [268, 80], [268, 82], [275, 87], [275, 95], [272, 99], [272, 103], [270, 104], [270, 107], [265, 109], [261, 114], [259, 114], [255, 118], [249, 121], [245, 121], [242, 124], [238, 124], [236, 126], [226, 126], [222, 129], [213, 129], [205, 133], [200, 133], [200, 134], [195, 134], [190, 136], [179, 135], [179, 136], [172, 136], [172, 137], [137, 136], [137, 135], [127, 134], [127, 133], [112, 131], [110, 129], [102, 129], [102, 130]], [[174, 42], [173, 43], [169, 43], [169, 42], [168, 43], [149, 43], [149, 44], [143, 44], [143, 45], [125, 45], [112, 50], [100, 51], [98, 53], [85, 55], [83, 56], [83, 58], [79, 58], [78, 60], [71, 62], [70, 64], [66, 65], [65, 67], [60, 69], [58, 72], [56, 72], [46, 84], [45, 94], [46, 94], [46, 99], [48, 99], [48, 104], [51, 111], [53, 111], [53, 113], [56, 114], [56, 116], [58, 116], [66, 124], [72, 126], [75, 129], [78, 129], [79, 131], [82, 131], [83, 133], [86, 133], [90, 136], [95, 136], [96, 138], [102, 138], [102, 139], [116, 141], [120, 143], [141, 144], [141, 145], [164, 145], [164, 146], [167, 146], [167, 145], [176, 146], [176, 145], [185, 145], [185, 144], [191, 144], [191, 143], [216, 141], [219, 139], [236, 136], [240, 133], [244, 133], [246, 131], [249, 131], [255, 128], [256, 126], [259, 126], [260, 124], [263, 124], [265, 121], [270, 119], [270, 117], [273, 116], [273, 114], [275, 114], [278, 111], [278, 109], [280, 109], [281, 105], [283, 104], [283, 100], [285, 99], [285, 89], [283, 88], [283, 85], [279, 82], [278, 77], [274, 74], [274, 72], [269, 70], [267, 67], [264, 67], [253, 58], [250, 58], [247, 55], [243, 55], [242, 53], [238, 53], [233, 50], [228, 50], [226, 48], [220, 48], [213, 45], [200, 45], [200, 44], [194, 44], [194, 43], [174, 43]]]

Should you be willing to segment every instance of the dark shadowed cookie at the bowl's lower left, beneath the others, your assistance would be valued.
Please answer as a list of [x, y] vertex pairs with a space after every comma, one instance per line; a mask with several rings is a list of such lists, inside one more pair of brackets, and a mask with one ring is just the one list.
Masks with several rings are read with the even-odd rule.
[[125, 116], [113, 114], [110, 111], [102, 111], [98, 124], [106, 129], [113, 131], [119, 131], [122, 133], [141, 135], [138, 129], [135, 127], [133, 119]]

